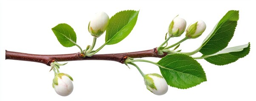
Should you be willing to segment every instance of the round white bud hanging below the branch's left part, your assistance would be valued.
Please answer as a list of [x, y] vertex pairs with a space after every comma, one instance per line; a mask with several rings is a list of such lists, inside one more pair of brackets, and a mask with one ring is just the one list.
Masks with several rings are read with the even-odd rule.
[[60, 96], [68, 96], [73, 91], [73, 78], [68, 74], [58, 73], [53, 78], [53, 88]]

